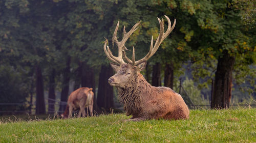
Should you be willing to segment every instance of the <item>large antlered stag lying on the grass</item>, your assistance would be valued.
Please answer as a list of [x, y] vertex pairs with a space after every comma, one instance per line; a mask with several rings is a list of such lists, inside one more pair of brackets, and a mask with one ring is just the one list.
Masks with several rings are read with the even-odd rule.
[[[126, 116], [132, 115], [128, 121], [144, 121], [150, 119], [166, 119], [178, 120], [188, 119], [189, 109], [183, 98], [170, 88], [154, 87], [148, 83], [140, 74], [145, 68], [146, 61], [155, 54], [161, 42], [173, 31], [176, 20], [171, 26], [170, 19], [165, 16], [168, 21], [168, 28], [164, 33], [164, 21], [158, 18], [160, 24], [159, 36], [153, 47], [153, 36], [151, 39], [150, 51], [141, 60], [135, 61], [135, 53], [133, 47], [132, 60], [127, 58], [125, 54], [125, 42], [137, 30], [140, 22], [136, 23], [131, 31], [125, 32], [123, 28], [123, 38], [117, 40], [117, 30], [119, 22], [116, 25], [112, 38], [112, 44], [117, 44], [118, 56], [114, 56], [109, 46], [106, 46], [108, 40], [104, 44], [104, 52], [108, 59], [112, 61], [112, 68], [116, 74], [109, 78], [109, 83], [118, 89], [119, 101], [123, 104]], [[106, 48], [107, 47], [107, 48]], [[123, 59], [127, 62], [125, 63]]]

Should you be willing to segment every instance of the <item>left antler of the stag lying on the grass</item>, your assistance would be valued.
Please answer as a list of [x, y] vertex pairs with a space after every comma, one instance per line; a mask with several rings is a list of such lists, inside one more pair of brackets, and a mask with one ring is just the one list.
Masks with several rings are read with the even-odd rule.
[[[117, 30], [118, 30], [118, 27], [119, 27], [119, 21], [117, 22], [117, 25], [116, 25], [116, 29], [115, 29], [115, 32], [113, 34], [113, 38], [112, 38], [112, 45], [114, 46], [114, 43], [116, 43], [117, 47], [118, 47], [118, 56], [114, 56], [112, 54], [112, 52], [110, 51], [110, 48], [109, 46], [106, 46], [106, 44], [108, 43], [108, 40], [106, 39], [105, 40], [105, 44], [104, 44], [104, 52], [106, 54], [106, 56], [108, 57], [108, 59], [116, 64], [124, 64], [125, 62], [123, 61], [123, 51], [126, 49], [125, 47], [125, 42], [128, 40], [128, 38], [133, 34], [133, 32], [135, 32], [138, 28], [138, 25], [140, 24], [140, 22], [136, 23], [132, 29], [126, 33], [125, 31], [125, 26], [123, 27], [123, 39], [119, 42], [117, 40]], [[106, 47], [108, 49], [106, 49]], [[130, 60], [130, 59], [129, 59]], [[130, 60], [131, 61], [131, 60]], [[129, 62], [130, 62], [129, 61]]]

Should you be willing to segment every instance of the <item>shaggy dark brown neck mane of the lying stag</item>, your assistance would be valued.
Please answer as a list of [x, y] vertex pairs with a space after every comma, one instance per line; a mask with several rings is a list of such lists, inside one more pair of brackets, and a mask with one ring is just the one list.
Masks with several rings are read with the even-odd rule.
[[142, 74], [138, 74], [135, 80], [130, 80], [132, 87], [117, 88], [119, 101], [123, 104], [126, 115], [137, 116], [140, 113], [141, 96], [150, 95], [152, 86], [146, 81]]

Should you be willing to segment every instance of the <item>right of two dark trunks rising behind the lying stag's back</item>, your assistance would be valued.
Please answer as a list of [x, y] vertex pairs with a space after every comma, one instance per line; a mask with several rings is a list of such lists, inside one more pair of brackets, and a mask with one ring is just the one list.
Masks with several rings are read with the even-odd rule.
[[173, 65], [173, 63], [165, 65], [164, 87], [168, 87], [170, 89], [173, 89], [173, 87], [174, 87], [174, 65]]

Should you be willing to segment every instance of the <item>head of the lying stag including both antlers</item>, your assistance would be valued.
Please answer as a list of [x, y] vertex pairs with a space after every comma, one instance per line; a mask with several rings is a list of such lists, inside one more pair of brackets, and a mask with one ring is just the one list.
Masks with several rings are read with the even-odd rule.
[[[136, 23], [128, 33], [126, 33], [125, 26], [124, 26], [123, 27], [123, 38], [121, 41], [118, 41], [117, 40], [117, 30], [118, 30], [118, 26], [119, 26], [119, 21], [118, 21], [118, 23], [116, 25], [115, 32], [113, 34], [113, 38], [112, 38], [112, 44], [114, 45], [114, 43], [115, 43], [118, 47], [118, 56], [114, 56], [112, 54], [112, 52], [110, 51], [109, 46], [107, 46], [107, 43], [108, 43], [107, 39], [105, 40], [105, 44], [104, 44], [104, 52], [105, 52], [106, 56], [108, 57], [108, 59], [113, 62], [113, 63], [111, 63], [111, 67], [116, 71], [116, 74], [109, 78], [109, 83], [111, 85], [114, 85], [114, 86], [117, 86], [120, 88], [132, 87], [133, 82], [137, 80], [137, 78], [140, 74], [140, 71], [145, 68], [146, 61], [148, 59], [150, 59], [151, 56], [153, 56], [156, 53], [156, 51], [159, 48], [162, 41], [170, 34], [170, 32], [173, 31], [173, 29], [175, 27], [175, 23], [176, 23], [175, 19], [174, 19], [173, 26], [171, 26], [170, 19], [166, 15], [165, 15], [165, 18], [168, 21], [168, 27], [167, 27], [166, 32], [164, 32], [163, 19], [160, 20], [158, 18], [158, 21], [160, 24], [160, 32], [159, 32], [159, 36], [155, 42], [155, 45], [153, 46], [153, 36], [152, 36], [150, 51], [144, 56], [144, 58], [142, 58], [138, 61], [135, 61], [134, 47], [133, 47], [132, 60], [127, 58], [127, 56], [125, 54], [125, 50], [127, 50], [125, 47], [125, 42], [137, 30], [140, 22]], [[124, 62], [124, 60], [126, 61], [126, 63]]]

